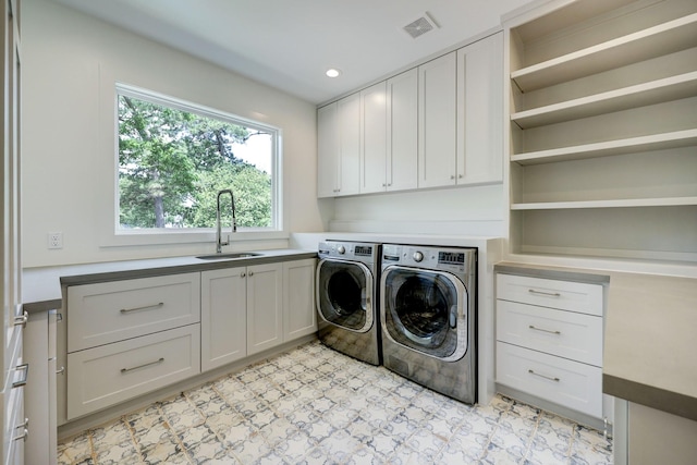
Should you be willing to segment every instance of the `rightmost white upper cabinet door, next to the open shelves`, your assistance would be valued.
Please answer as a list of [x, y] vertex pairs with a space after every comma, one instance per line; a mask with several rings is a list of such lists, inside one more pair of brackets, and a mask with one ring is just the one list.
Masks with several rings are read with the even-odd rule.
[[503, 33], [457, 51], [457, 184], [503, 180]]

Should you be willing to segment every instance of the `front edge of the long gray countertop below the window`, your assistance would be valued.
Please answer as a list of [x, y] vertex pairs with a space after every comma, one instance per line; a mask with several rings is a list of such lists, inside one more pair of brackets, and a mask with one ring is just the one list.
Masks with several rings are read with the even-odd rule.
[[86, 274], [72, 274], [61, 277], [61, 285], [94, 284], [108, 281], [123, 281], [137, 278], [150, 278], [164, 274], [188, 273], [196, 271], [220, 270], [224, 268], [247, 267], [264, 264], [278, 264], [282, 261], [302, 260], [305, 258], [317, 258], [316, 252], [299, 252], [289, 255], [273, 255], [245, 257], [231, 260], [200, 260], [194, 264], [171, 265], [166, 267], [138, 268], [132, 270], [105, 271]]

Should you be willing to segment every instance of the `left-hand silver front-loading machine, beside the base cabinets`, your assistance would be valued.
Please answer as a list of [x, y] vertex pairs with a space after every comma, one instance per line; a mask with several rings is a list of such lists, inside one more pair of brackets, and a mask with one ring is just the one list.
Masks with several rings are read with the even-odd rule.
[[325, 241], [318, 255], [319, 340], [343, 354], [380, 365], [380, 244]]

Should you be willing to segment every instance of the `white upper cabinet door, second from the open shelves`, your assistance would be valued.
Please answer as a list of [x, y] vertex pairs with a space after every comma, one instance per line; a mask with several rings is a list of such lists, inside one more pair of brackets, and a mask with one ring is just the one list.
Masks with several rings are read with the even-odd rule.
[[418, 68], [418, 186], [455, 184], [456, 54]]

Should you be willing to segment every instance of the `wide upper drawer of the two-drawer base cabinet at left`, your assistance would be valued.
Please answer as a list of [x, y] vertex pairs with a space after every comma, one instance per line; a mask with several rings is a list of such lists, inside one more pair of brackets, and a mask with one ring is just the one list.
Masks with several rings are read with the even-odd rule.
[[200, 273], [68, 289], [68, 352], [198, 322]]

